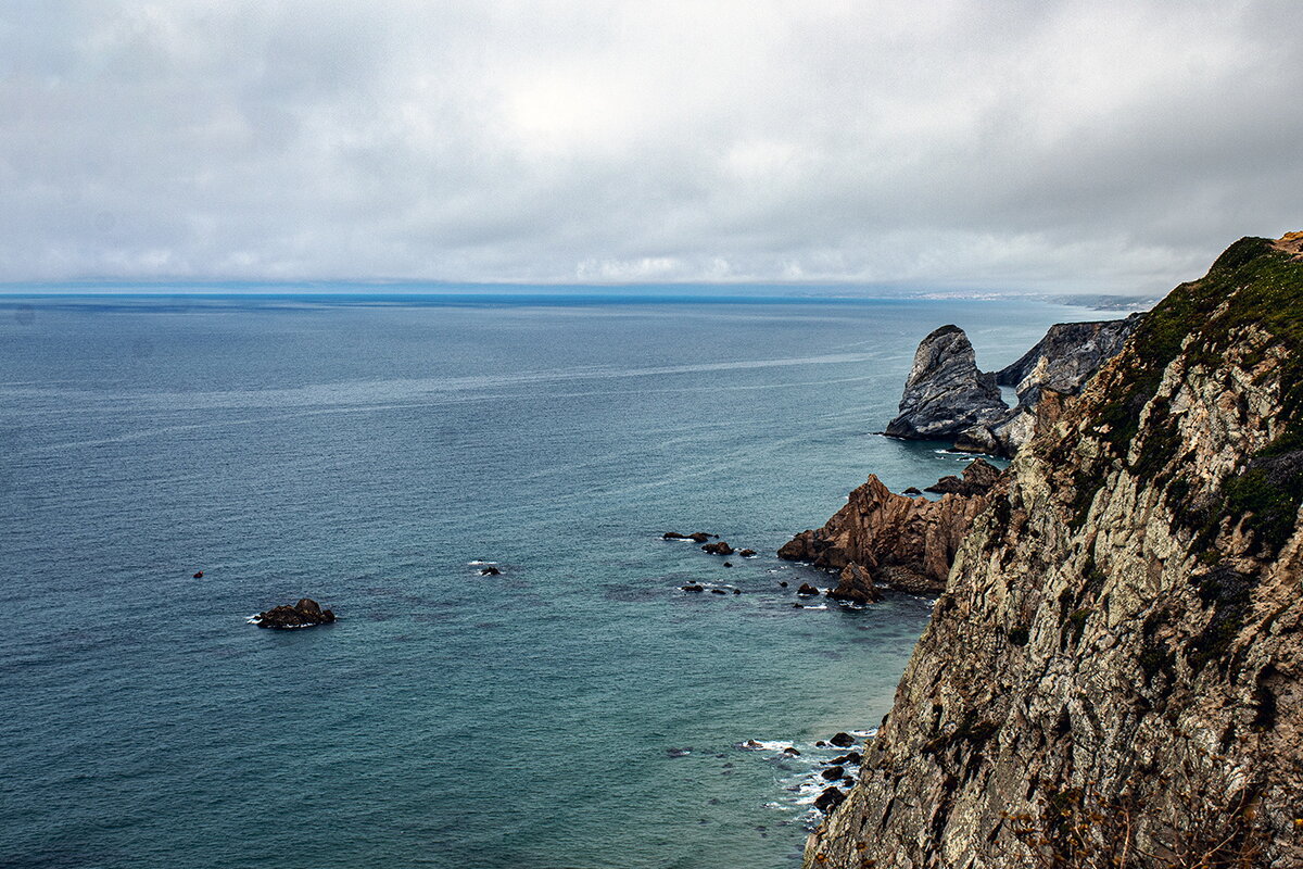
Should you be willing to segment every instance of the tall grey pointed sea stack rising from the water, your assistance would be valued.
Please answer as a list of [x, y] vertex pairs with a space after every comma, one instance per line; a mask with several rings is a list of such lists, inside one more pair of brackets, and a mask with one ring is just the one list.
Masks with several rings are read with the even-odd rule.
[[894, 438], [941, 440], [1009, 412], [993, 374], [977, 369], [973, 345], [958, 326], [942, 326], [919, 344], [900, 397]]

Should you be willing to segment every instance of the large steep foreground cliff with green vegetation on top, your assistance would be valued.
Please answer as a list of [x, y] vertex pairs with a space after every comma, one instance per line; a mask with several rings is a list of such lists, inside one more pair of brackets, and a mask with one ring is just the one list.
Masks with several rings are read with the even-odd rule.
[[807, 866], [1303, 865], [1303, 257], [1282, 242], [1233, 245], [1052, 401]]

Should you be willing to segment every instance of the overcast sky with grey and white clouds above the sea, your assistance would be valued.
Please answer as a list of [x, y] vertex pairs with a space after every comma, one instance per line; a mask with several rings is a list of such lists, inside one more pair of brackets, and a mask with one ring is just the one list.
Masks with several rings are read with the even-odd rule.
[[1303, 229], [1294, 0], [0, 0], [0, 281], [1154, 293]]

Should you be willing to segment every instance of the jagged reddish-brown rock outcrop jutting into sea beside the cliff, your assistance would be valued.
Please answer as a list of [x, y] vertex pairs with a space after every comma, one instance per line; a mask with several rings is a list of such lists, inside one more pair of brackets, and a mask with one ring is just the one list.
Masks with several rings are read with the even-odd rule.
[[963, 479], [949, 479], [955, 492], [926, 500], [896, 495], [870, 474], [823, 528], [801, 532], [778, 556], [830, 571], [855, 564], [870, 582], [913, 594], [939, 591], [959, 541], [985, 509], [985, 492], [999, 472], [979, 459], [964, 469]]

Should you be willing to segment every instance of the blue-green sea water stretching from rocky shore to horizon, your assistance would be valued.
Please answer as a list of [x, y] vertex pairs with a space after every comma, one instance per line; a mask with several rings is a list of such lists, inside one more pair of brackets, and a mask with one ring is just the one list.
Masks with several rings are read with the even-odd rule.
[[[796, 865], [787, 788], [929, 605], [794, 608], [827, 577], [774, 550], [960, 468], [870, 434], [923, 335], [997, 367], [1083, 318], [0, 298], [0, 865]], [[659, 539], [698, 529], [761, 555]], [[302, 595], [341, 620], [245, 621]]]

